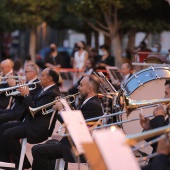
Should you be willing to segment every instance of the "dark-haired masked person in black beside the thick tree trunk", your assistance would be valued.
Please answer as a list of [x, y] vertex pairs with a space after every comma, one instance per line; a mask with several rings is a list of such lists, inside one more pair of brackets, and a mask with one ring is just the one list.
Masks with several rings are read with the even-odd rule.
[[99, 56], [96, 68], [105, 69], [106, 66], [114, 66], [114, 57], [109, 53], [109, 47], [106, 44], [100, 46], [101, 56]]

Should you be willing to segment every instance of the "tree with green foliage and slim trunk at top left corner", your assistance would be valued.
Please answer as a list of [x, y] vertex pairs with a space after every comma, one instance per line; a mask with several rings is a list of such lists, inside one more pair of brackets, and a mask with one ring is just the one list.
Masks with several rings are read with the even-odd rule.
[[53, 0], [1, 0], [1, 18], [5, 30], [30, 30], [29, 53], [35, 60], [36, 51], [36, 27], [43, 22], [43, 18], [56, 13], [59, 1]]

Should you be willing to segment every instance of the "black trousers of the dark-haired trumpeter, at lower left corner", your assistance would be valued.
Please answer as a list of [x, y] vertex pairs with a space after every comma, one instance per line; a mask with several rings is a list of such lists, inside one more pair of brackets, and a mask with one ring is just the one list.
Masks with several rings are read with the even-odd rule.
[[[0, 161], [14, 162], [19, 165], [21, 144], [20, 139], [26, 138], [26, 131], [23, 122], [9, 122], [0, 127]], [[27, 157], [25, 157], [23, 167], [31, 167]]]

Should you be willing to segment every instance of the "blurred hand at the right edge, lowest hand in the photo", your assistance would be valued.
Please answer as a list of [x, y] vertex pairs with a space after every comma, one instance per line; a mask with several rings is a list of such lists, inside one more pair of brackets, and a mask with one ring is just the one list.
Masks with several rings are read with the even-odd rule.
[[158, 142], [157, 152], [160, 154], [170, 154], [170, 142], [168, 139], [163, 138]]

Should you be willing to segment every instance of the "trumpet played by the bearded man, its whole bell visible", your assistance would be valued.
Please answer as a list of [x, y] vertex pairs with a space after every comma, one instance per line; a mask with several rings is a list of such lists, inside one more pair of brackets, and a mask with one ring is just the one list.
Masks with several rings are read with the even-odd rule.
[[[73, 98], [73, 100], [69, 101], [69, 104], [71, 104], [71, 103], [73, 103], [73, 102], [75, 101], [76, 96], [79, 95], [79, 94], [80, 94], [80, 92], [75, 93], [75, 94], [73, 94], [73, 95], [65, 96], [65, 97], [63, 97], [62, 99], [66, 99], [66, 100], [67, 100], [67, 99]], [[47, 110], [47, 108], [50, 107], [50, 106], [53, 106], [53, 105], [54, 105], [56, 102], [58, 102], [58, 101], [60, 101], [60, 99], [56, 99], [56, 100], [54, 100], [53, 102], [47, 103], [47, 104], [45, 104], [45, 105], [43, 105], [43, 106], [40, 106], [40, 107], [36, 107], [36, 108], [31, 108], [31, 107], [29, 107], [30, 113], [31, 113], [31, 115], [32, 115], [33, 117], [34, 117], [35, 113], [38, 112], [38, 111], [40, 111], [40, 110], [42, 111], [42, 114], [43, 114], [43, 115], [46, 115], [46, 114], [48, 114], [48, 113], [51, 113], [52, 111], [54, 111], [54, 109]]]

